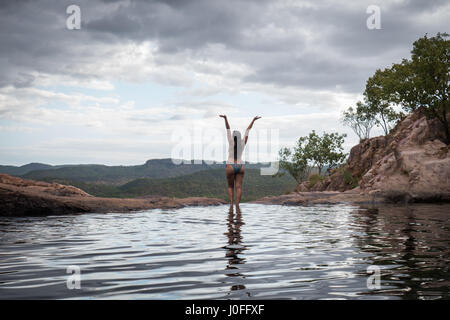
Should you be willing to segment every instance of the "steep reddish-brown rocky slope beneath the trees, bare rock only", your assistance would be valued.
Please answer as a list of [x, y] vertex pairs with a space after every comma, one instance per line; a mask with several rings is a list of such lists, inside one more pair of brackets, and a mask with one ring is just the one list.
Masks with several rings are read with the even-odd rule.
[[413, 112], [388, 135], [354, 146], [347, 162], [326, 179], [305, 181], [296, 191], [353, 190], [388, 202], [449, 202], [450, 152], [443, 132], [437, 119]]

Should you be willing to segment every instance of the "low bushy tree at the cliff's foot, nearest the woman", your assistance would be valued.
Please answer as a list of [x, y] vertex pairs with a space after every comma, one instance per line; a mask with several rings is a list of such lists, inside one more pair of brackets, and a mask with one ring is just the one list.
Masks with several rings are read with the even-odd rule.
[[345, 137], [345, 134], [326, 132], [319, 136], [313, 130], [308, 136], [300, 137], [292, 150], [280, 149], [280, 167], [298, 183], [306, 180], [311, 167], [316, 167], [319, 174], [325, 167], [333, 169], [345, 160], [346, 155], [342, 152]]

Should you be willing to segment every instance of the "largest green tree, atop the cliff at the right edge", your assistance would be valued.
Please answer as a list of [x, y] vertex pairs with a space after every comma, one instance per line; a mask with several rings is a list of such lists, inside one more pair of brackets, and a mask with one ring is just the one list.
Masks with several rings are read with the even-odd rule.
[[393, 108], [400, 105], [411, 112], [423, 108], [429, 119], [438, 119], [450, 143], [448, 99], [450, 83], [450, 41], [446, 33], [427, 35], [413, 44], [411, 59], [390, 68], [377, 70], [367, 80], [365, 99], [370, 112], [377, 116], [377, 124], [387, 134], [391, 123], [401, 117]]

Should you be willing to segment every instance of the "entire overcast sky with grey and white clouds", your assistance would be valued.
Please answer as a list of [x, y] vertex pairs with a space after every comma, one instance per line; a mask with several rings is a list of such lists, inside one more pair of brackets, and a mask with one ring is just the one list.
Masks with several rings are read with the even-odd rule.
[[241, 131], [262, 116], [248, 160], [311, 130], [347, 133], [348, 151], [342, 110], [449, 21], [446, 0], [2, 1], [0, 164], [141, 164], [171, 157], [177, 136], [225, 151], [219, 114]]

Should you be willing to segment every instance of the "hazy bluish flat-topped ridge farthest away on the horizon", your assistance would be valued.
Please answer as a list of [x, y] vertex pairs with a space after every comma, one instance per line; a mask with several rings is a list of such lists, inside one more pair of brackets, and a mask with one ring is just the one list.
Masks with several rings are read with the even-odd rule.
[[[43, 165], [45, 166], [45, 165]], [[248, 168], [260, 168], [261, 164], [248, 164]], [[25, 167], [25, 166], [24, 166]], [[223, 168], [224, 165], [206, 164], [174, 164], [172, 159], [152, 159], [143, 165], [105, 166], [98, 164], [65, 165], [57, 168], [48, 166], [29, 170], [25, 173], [9, 173], [32, 180], [67, 180], [72, 182], [102, 183], [121, 185], [139, 178], [172, 178], [198, 171]], [[20, 167], [22, 168], [22, 167]], [[2, 172], [0, 170], [0, 172]], [[8, 172], [4, 172], [8, 173]]]

